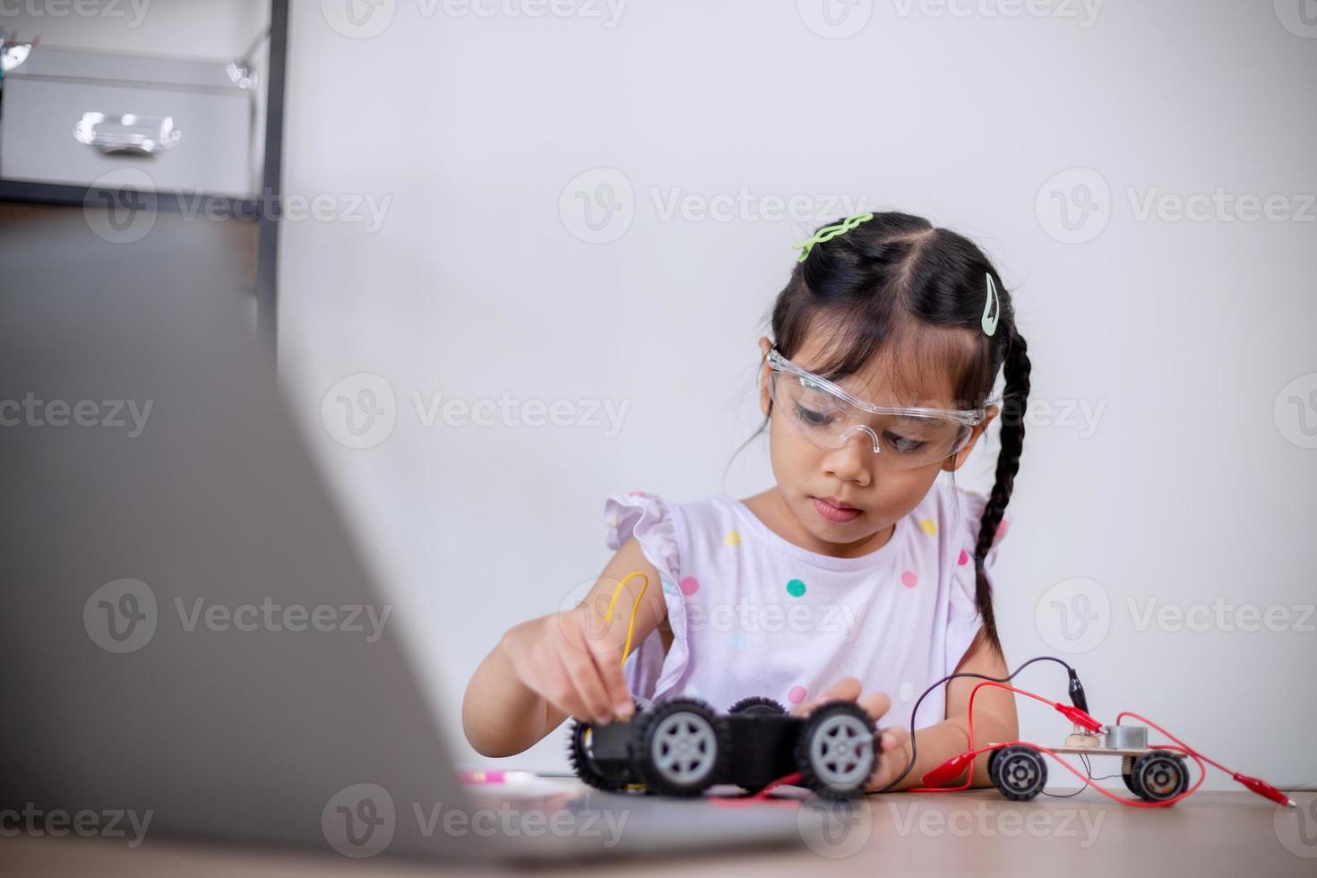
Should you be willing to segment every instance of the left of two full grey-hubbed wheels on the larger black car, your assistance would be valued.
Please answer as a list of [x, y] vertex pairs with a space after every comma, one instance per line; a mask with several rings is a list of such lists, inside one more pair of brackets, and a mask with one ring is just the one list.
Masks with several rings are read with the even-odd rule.
[[[677, 729], [677, 735], [685, 736], [687, 744], [695, 742], [691, 738], [698, 738], [698, 749], [702, 749], [707, 756], [707, 765], [702, 766], [698, 777], [676, 777], [669, 769], [658, 765], [653, 756], [656, 745], [664, 746], [656, 740], [657, 736], [666, 736], [674, 731], [668, 720], [678, 713], [687, 713], [694, 719], [685, 729]], [[697, 796], [719, 783], [726, 774], [724, 766], [731, 750], [731, 735], [727, 731], [726, 719], [718, 716], [707, 703], [695, 698], [664, 702], [641, 715], [633, 725], [632, 774], [645, 783], [651, 792]], [[709, 748], [712, 748], [712, 753], [707, 753]]]

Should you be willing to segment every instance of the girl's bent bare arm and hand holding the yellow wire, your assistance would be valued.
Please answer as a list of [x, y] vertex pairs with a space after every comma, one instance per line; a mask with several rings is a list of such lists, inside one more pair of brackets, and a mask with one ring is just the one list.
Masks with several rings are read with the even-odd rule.
[[[640, 577], [631, 579], [618, 594], [610, 619], [612, 592], [637, 570], [648, 583]], [[668, 619], [658, 571], [632, 537], [576, 608], [510, 628], [475, 669], [462, 698], [462, 731], [475, 752], [515, 756], [568, 716], [590, 723], [630, 717], [633, 706], [622, 674], [622, 649], [637, 598], [632, 650]]]

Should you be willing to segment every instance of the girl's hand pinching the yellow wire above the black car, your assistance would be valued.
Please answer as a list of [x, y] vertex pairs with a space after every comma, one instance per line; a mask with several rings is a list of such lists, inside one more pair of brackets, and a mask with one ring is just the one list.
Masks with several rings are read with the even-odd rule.
[[551, 706], [586, 723], [635, 712], [622, 675], [626, 625], [607, 624], [589, 606], [511, 628], [499, 644], [516, 677]]

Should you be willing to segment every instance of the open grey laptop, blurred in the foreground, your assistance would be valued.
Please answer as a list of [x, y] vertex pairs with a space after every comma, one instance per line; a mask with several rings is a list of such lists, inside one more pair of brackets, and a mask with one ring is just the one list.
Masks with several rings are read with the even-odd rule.
[[11, 824], [444, 861], [809, 842], [782, 803], [464, 786], [436, 721], [457, 706], [419, 683], [227, 234], [161, 213], [116, 244], [43, 216], [0, 229]]

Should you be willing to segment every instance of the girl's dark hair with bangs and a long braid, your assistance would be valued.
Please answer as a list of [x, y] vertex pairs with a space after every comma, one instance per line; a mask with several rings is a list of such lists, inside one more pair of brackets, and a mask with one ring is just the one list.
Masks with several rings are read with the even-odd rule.
[[[986, 275], [992, 275], [1000, 301], [992, 336], [981, 326]], [[975, 603], [989, 644], [1000, 650], [984, 558], [1019, 470], [1030, 371], [1006, 286], [968, 238], [906, 213], [874, 213], [849, 232], [815, 244], [777, 295], [770, 338], [784, 357], [790, 359], [814, 329], [832, 333], [834, 342], [828, 361], [811, 366], [813, 371], [835, 380], [857, 374], [874, 355], [882, 357], [893, 386], [909, 404], [919, 404], [909, 394], [917, 386], [913, 376], [938, 370], [954, 376], [955, 407], [979, 408], [1005, 367], [997, 479], [975, 546]], [[765, 417], [745, 444], [768, 424]]]

